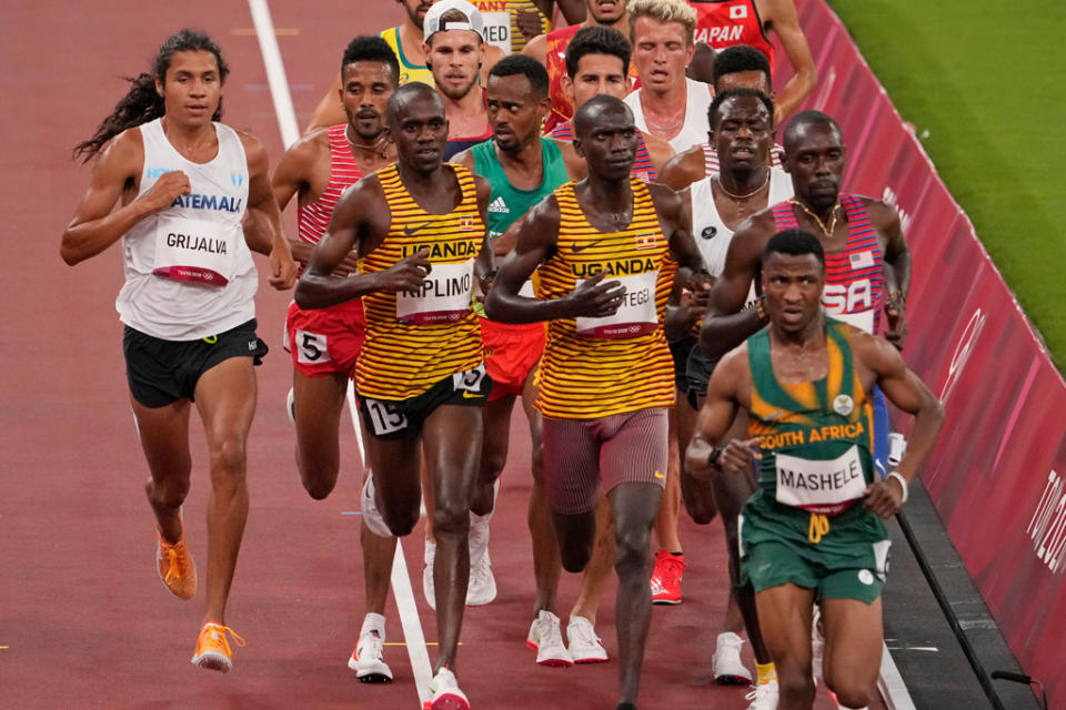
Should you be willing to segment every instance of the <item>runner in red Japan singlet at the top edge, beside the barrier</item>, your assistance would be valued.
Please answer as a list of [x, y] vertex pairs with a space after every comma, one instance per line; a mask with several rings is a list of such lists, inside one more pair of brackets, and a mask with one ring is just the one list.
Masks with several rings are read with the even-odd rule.
[[774, 100], [774, 124], [782, 123], [814, 90], [817, 71], [794, 0], [688, 0], [688, 3], [696, 11], [697, 42], [706, 42], [718, 52], [736, 44], [754, 47], [770, 60], [771, 71], [774, 45], [768, 34], [777, 34], [795, 73]]

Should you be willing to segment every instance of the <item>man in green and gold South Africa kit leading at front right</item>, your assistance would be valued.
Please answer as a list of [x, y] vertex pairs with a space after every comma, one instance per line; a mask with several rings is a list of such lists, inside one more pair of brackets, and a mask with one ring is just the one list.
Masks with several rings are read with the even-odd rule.
[[[745, 476], [758, 466], [758, 491], [742, 517], [742, 569], [781, 677], [780, 710], [814, 706], [815, 604], [826, 684], [844, 707], [874, 697], [892, 545], [882, 518], [906, 501], [944, 423], [943, 406], [895, 348], [825, 315], [826, 261], [819, 240], [800, 230], [766, 243], [770, 326], [718, 363], [687, 453], [690, 470], [702, 475]], [[906, 455], [884, 479], [873, 466], [875, 385], [915, 415]], [[740, 409], [750, 412], [752, 438], [718, 448]]]

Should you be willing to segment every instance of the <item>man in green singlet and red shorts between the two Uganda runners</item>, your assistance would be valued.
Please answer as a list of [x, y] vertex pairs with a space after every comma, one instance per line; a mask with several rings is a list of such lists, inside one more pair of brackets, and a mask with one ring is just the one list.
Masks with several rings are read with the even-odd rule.
[[[503, 257], [513, 246], [501, 239], [503, 233], [566, 182], [567, 174], [560, 144], [541, 138], [541, 124], [551, 110], [551, 101], [547, 98], [547, 72], [536, 60], [522, 54], [502, 59], [489, 73], [485, 94], [493, 140], [463, 151], [454, 162], [482, 175], [492, 185], [486, 226], [495, 255]], [[527, 291], [532, 294], [532, 286]], [[474, 308], [484, 315], [481, 303]], [[492, 394], [485, 405], [485, 439], [471, 507], [471, 574], [466, 604], [487, 604], [496, 594], [487, 551], [489, 519], [495, 505], [494, 484], [507, 460], [511, 412], [515, 397], [522, 395], [532, 439], [533, 494], [529, 525], [537, 586], [534, 607], [537, 611], [555, 612], [559, 552], [543, 494], [541, 417], [533, 407], [532, 374], [544, 349], [544, 326], [541, 323], [497, 323], [482, 317], [481, 335], [485, 344], [485, 369], [492, 377]], [[551, 660], [565, 663], [569, 658], [566, 648], [561, 642], [557, 648], [562, 649], [563, 656]]]

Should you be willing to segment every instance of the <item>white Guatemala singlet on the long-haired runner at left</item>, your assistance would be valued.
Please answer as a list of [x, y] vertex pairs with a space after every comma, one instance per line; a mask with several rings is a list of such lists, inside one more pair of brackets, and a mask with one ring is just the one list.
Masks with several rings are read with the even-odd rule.
[[[144, 168], [138, 197], [164, 173], [180, 170], [191, 192], [122, 236], [125, 284], [115, 300], [122, 323], [167, 341], [195, 341], [255, 317], [259, 277], [241, 222], [248, 210], [248, 158], [237, 132], [213, 123], [219, 153], [207, 163], [183, 158], [160, 119], [140, 126]], [[179, 268], [169, 268], [180, 264]], [[207, 264], [215, 283], [168, 277]], [[224, 285], [219, 285], [219, 283]]]

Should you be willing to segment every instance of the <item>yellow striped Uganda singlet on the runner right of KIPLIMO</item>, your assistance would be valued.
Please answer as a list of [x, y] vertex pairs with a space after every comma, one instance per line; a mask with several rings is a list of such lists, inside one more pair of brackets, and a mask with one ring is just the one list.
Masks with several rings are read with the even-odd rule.
[[[645, 304], [651, 308], [645, 327], [634, 327], [636, 334], [631, 337], [604, 337], [604, 328], [590, 329], [574, 318], [549, 324], [536, 374], [536, 406], [544, 416], [589, 419], [674, 403], [663, 312], [677, 264], [670, 255], [647, 185], [632, 176], [630, 184], [633, 220], [620, 232], [601, 232], [589, 224], [574, 196], [573, 182], [555, 191], [559, 240], [555, 253], [539, 270], [537, 298], [561, 298], [580, 281], [604, 270], [605, 281], [626, 283], [627, 300], [644, 296], [654, 301]], [[579, 327], [585, 334], [579, 334]]]

